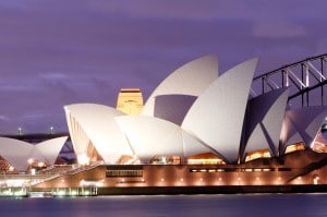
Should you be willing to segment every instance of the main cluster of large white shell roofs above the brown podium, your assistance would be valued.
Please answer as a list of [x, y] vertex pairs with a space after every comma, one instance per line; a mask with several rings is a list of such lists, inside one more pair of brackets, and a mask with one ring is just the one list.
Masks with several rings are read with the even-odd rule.
[[295, 143], [310, 147], [326, 108], [287, 109], [288, 88], [249, 99], [256, 64], [252, 59], [218, 76], [215, 55], [191, 61], [158, 85], [138, 116], [95, 104], [65, 106], [77, 160], [133, 165], [210, 153], [219, 159], [211, 161], [234, 164], [282, 156]]

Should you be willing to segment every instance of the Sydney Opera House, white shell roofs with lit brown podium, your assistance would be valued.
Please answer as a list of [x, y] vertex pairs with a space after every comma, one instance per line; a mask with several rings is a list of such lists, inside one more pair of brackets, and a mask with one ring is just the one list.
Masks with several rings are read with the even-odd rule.
[[66, 137], [38, 145], [1, 138], [11, 147], [1, 156], [17, 171], [26, 171], [28, 158], [46, 162], [29, 182], [35, 189], [93, 185], [110, 194], [326, 184], [327, 108], [292, 108], [288, 87], [253, 96], [257, 61], [220, 73], [209, 55], [172, 72], [145, 104], [140, 89], [124, 88], [117, 108], [64, 106], [74, 165], [55, 164]]

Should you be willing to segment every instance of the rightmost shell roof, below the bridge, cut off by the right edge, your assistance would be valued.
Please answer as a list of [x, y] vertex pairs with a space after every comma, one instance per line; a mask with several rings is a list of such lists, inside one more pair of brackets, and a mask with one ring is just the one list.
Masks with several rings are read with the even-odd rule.
[[281, 141], [281, 150], [288, 145], [303, 142], [310, 147], [327, 117], [326, 106], [304, 107], [286, 112]]

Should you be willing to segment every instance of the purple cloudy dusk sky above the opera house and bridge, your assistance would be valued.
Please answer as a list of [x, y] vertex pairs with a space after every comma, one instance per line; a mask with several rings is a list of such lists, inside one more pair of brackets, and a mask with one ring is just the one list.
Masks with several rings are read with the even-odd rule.
[[66, 131], [63, 106], [145, 99], [173, 70], [218, 53], [257, 74], [326, 52], [325, 0], [1, 0], [0, 134]]

